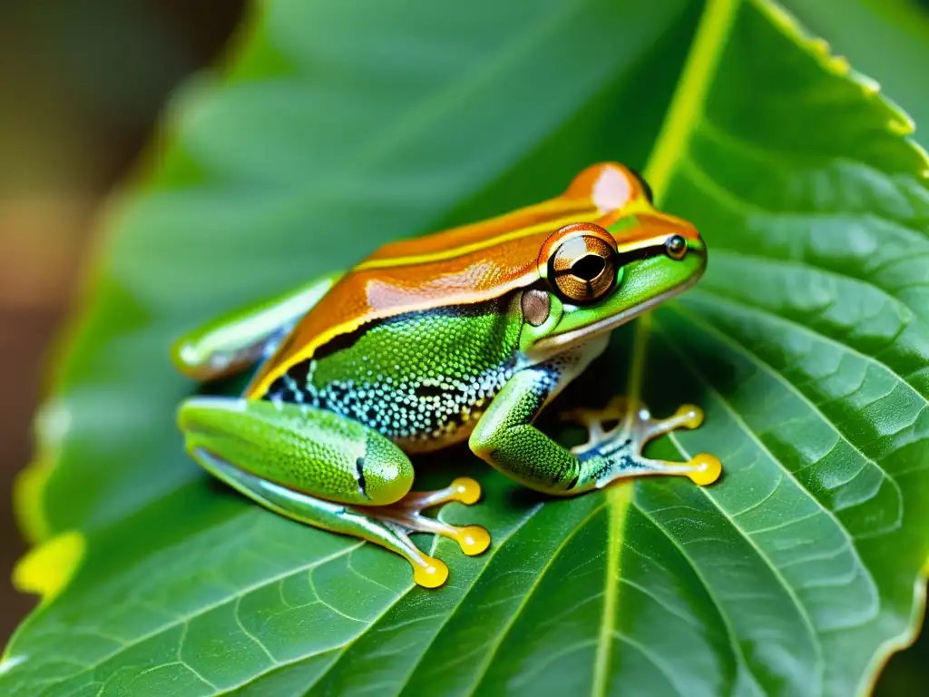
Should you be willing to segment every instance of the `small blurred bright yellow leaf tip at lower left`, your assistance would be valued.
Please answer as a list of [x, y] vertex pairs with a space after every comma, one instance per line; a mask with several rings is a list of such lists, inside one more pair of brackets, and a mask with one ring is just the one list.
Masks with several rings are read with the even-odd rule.
[[84, 535], [60, 533], [26, 553], [13, 570], [13, 585], [21, 593], [42, 597], [43, 604], [57, 598], [84, 558]]

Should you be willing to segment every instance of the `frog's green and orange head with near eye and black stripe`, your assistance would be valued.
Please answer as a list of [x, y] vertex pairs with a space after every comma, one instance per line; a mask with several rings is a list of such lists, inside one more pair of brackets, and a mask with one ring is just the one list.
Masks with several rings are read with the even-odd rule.
[[650, 192], [601, 225], [553, 233], [539, 254], [540, 283], [523, 292], [521, 348], [542, 360], [608, 333], [696, 283], [706, 244], [693, 225], [656, 210]]

